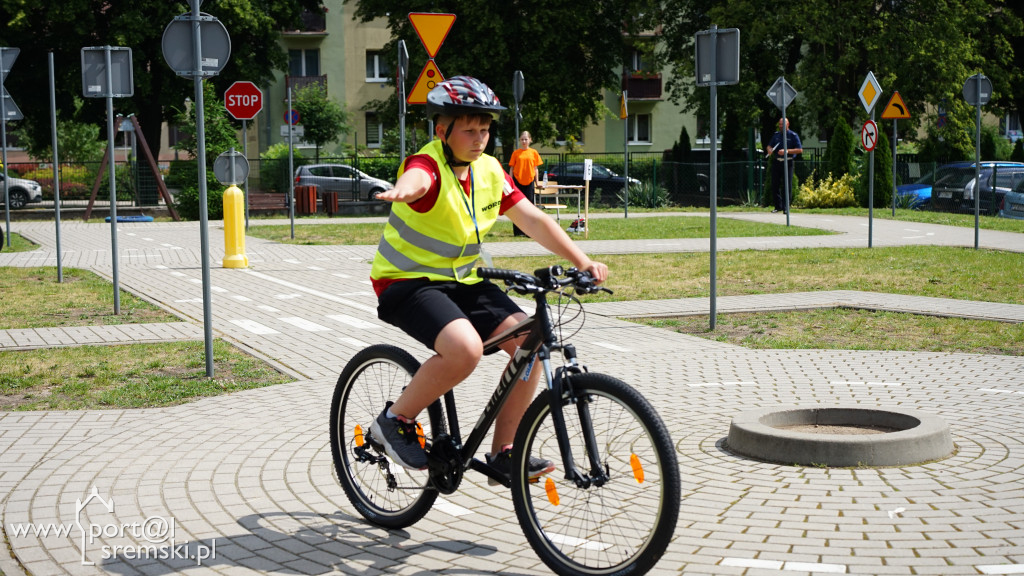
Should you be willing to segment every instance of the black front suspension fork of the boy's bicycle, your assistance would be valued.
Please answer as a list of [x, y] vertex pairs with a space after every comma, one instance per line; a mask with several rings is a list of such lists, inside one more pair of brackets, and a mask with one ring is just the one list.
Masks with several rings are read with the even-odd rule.
[[[602, 486], [608, 481], [608, 470], [601, 462], [598, 452], [597, 437], [594, 435], [594, 423], [590, 416], [590, 398], [581, 396], [572, 388], [572, 374], [580, 374], [584, 368], [577, 361], [575, 346], [565, 344], [560, 346], [565, 357], [565, 364], [551, 370], [551, 355], [546, 349], [539, 353], [544, 366], [544, 378], [548, 385], [548, 398], [551, 403], [551, 420], [554, 423], [558, 439], [558, 449], [561, 452], [562, 464], [565, 466], [565, 480], [573, 482], [580, 488]], [[590, 474], [584, 474], [575, 464], [572, 456], [572, 445], [569, 442], [568, 429], [565, 426], [563, 408], [575, 405], [580, 417], [580, 431], [583, 435], [584, 448], [590, 460]]]

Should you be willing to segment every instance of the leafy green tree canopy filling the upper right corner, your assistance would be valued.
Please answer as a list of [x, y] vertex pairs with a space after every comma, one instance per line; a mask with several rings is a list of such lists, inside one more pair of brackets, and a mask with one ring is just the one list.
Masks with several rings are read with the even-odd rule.
[[[1012, 4], [1012, 6], [1008, 5]], [[830, 139], [836, 116], [863, 119], [856, 96], [868, 71], [883, 90], [898, 89], [910, 107], [907, 133], [932, 125], [934, 108], [959, 96], [964, 81], [979, 70], [996, 71], [1004, 110], [1024, 104], [1024, 3], [1004, 0], [667, 0], [662, 61], [672, 67], [670, 94], [687, 110], [707, 114], [708, 90], [693, 86], [693, 37], [711, 25], [740, 29], [740, 82], [719, 90], [726, 128], [759, 124], [763, 138], [777, 112], [764, 96], [785, 75], [798, 90], [787, 116]], [[989, 76], [993, 73], [986, 72]], [[1016, 88], [1016, 91], [1015, 91]], [[1000, 88], [997, 87], [996, 91]], [[1001, 99], [1000, 99], [1001, 98]], [[1013, 104], [1011, 104], [1013, 102]], [[951, 125], [970, 120], [948, 106]], [[905, 124], [904, 124], [905, 123]]]

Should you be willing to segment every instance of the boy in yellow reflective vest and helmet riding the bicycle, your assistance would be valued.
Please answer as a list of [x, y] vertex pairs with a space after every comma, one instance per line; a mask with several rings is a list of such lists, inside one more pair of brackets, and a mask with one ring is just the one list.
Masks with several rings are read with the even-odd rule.
[[[371, 272], [378, 316], [435, 352], [371, 426], [388, 455], [407, 468], [427, 467], [417, 433], [420, 412], [473, 372], [483, 340], [526, 319], [503, 290], [472, 270], [499, 215], [598, 283], [608, 276], [606, 265], [587, 257], [554, 220], [525, 201], [501, 163], [483, 153], [490, 123], [503, 110], [494, 91], [474, 78], [456, 76], [437, 84], [427, 94], [436, 139], [406, 159], [394, 188], [377, 196], [394, 203]], [[520, 343], [510, 340], [502, 349], [511, 357]], [[502, 407], [486, 455], [506, 475], [515, 429], [541, 370], [529, 374]], [[530, 478], [553, 469], [550, 460], [530, 458]]]

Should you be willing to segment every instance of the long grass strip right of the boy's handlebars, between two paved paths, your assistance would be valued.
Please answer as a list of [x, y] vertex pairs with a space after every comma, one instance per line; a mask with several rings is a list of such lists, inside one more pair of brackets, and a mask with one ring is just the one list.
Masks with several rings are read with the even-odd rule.
[[[588, 301], [708, 297], [706, 253], [599, 254], [613, 295]], [[532, 271], [555, 256], [495, 258], [495, 265]], [[719, 252], [719, 296], [820, 290], [861, 290], [991, 302], [1024, 303], [1024, 253], [943, 246], [801, 248]]]

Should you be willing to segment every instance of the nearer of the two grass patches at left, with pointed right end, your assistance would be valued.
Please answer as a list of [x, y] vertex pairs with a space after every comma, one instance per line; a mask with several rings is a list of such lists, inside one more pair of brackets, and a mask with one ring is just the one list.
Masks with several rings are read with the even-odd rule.
[[290, 380], [215, 340], [0, 352], [0, 410], [151, 408]]

